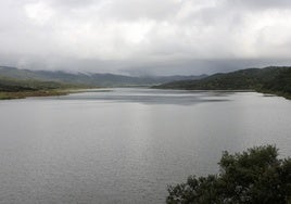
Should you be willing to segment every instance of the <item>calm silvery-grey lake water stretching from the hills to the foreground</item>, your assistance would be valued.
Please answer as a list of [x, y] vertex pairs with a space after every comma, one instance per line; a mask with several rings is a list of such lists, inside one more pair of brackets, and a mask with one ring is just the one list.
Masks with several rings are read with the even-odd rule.
[[0, 101], [0, 203], [164, 203], [223, 150], [291, 155], [291, 101], [254, 92], [112, 89]]

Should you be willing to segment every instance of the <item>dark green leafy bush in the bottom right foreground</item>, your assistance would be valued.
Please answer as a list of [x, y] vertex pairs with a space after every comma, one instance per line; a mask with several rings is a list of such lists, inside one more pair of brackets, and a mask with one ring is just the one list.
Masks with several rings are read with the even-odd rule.
[[275, 146], [256, 146], [236, 154], [224, 152], [218, 164], [218, 175], [190, 176], [186, 183], [169, 187], [166, 202], [291, 203], [291, 158], [279, 160]]

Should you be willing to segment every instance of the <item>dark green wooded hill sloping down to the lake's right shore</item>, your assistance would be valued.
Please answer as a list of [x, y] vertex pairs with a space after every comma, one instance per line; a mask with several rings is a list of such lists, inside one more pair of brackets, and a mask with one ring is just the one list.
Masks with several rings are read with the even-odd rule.
[[291, 67], [269, 66], [214, 74], [202, 79], [180, 80], [155, 86], [161, 89], [256, 90], [290, 98]]

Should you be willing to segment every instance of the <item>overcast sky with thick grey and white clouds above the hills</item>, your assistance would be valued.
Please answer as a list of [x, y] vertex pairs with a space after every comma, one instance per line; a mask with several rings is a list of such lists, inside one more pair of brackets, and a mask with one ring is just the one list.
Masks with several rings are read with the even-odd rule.
[[290, 0], [0, 1], [0, 65], [172, 75], [290, 56]]

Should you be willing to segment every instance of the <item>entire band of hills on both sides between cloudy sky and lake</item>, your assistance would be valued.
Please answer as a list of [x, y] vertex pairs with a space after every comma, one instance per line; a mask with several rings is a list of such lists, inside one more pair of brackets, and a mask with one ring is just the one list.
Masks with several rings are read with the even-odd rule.
[[159, 89], [256, 90], [291, 98], [291, 67], [246, 68], [211, 76], [147, 76], [29, 71], [0, 66], [0, 92], [152, 86]]

